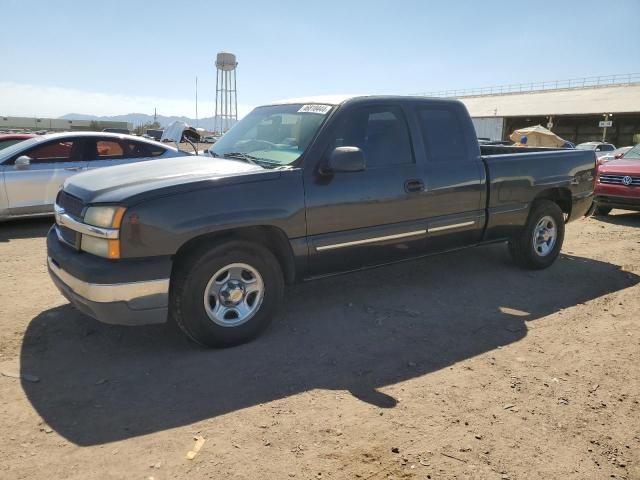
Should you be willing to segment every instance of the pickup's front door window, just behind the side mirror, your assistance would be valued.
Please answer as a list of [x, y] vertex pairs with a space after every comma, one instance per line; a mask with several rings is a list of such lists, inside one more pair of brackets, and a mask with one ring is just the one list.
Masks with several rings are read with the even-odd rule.
[[367, 168], [413, 163], [411, 139], [400, 107], [357, 108], [345, 115], [330, 148], [359, 147]]

